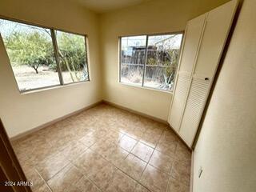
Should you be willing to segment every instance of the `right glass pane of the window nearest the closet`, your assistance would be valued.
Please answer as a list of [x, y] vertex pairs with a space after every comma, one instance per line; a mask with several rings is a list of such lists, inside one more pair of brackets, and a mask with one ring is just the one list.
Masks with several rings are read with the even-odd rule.
[[172, 90], [182, 34], [149, 36], [144, 86]]

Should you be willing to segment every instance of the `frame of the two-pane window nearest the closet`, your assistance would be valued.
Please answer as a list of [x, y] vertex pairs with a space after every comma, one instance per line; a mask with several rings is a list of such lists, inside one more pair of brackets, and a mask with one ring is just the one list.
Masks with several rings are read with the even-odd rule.
[[[146, 60], [147, 60], [147, 49], [148, 49], [148, 39], [150, 36], [158, 36], [158, 35], [167, 35], [167, 34], [182, 34], [182, 41], [181, 41], [181, 46], [180, 46], [180, 49], [178, 51], [178, 66], [177, 66], [177, 70], [176, 70], [176, 73], [174, 75], [174, 85], [175, 85], [175, 82], [176, 82], [176, 76], [177, 76], [177, 71], [178, 71], [178, 68], [179, 68], [179, 63], [180, 63], [180, 59], [181, 59], [181, 52], [182, 52], [182, 47], [183, 47], [183, 41], [184, 41], [184, 34], [185, 34], [185, 31], [182, 30], [182, 31], [175, 31], [175, 32], [165, 32], [165, 33], [155, 33], [155, 34], [131, 34], [131, 35], [124, 35], [124, 36], [118, 36], [118, 42], [119, 42], [119, 45], [118, 45], [118, 67], [119, 67], [119, 70], [118, 70], [118, 82], [123, 84], [123, 85], [127, 85], [127, 86], [135, 86], [135, 87], [138, 87], [138, 88], [143, 88], [143, 89], [149, 89], [149, 90], [158, 90], [158, 91], [164, 91], [164, 92], [168, 92], [168, 93], [173, 93], [174, 92], [174, 89], [172, 90], [163, 90], [163, 89], [159, 89], [159, 88], [155, 88], [155, 87], [150, 87], [150, 86], [145, 86], [144, 85], [144, 79], [145, 79], [145, 74], [146, 74]], [[142, 85], [136, 85], [134, 83], [127, 83], [127, 82], [122, 82], [121, 81], [121, 65], [122, 65], [122, 38], [129, 38], [129, 37], [135, 37], [135, 36], [146, 36], [146, 48], [145, 48], [145, 63], [143, 63], [143, 74], [142, 74]]]

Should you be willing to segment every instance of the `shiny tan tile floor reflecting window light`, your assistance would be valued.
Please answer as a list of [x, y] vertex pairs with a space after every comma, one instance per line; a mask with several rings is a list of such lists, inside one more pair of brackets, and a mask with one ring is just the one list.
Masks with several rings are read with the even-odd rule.
[[106, 104], [13, 146], [33, 191], [189, 191], [190, 150], [174, 132]]

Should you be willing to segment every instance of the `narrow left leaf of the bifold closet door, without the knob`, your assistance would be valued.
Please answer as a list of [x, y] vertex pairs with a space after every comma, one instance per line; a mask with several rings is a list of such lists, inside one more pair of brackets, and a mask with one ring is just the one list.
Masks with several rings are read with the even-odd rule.
[[190, 88], [190, 79], [197, 55], [197, 50], [202, 37], [203, 26], [206, 20], [206, 14], [194, 18], [187, 22], [185, 38], [183, 40], [183, 49], [180, 57], [177, 83], [174, 88], [174, 98], [170, 110], [170, 125], [179, 131], [181, 118], [186, 104], [186, 97]]

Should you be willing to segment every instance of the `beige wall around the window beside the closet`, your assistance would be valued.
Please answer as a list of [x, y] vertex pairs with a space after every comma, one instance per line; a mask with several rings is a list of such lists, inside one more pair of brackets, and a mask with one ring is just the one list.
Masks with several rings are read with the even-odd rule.
[[118, 83], [118, 36], [182, 31], [187, 20], [224, 2], [227, 0], [158, 0], [102, 14], [103, 98], [167, 121], [172, 94]]

